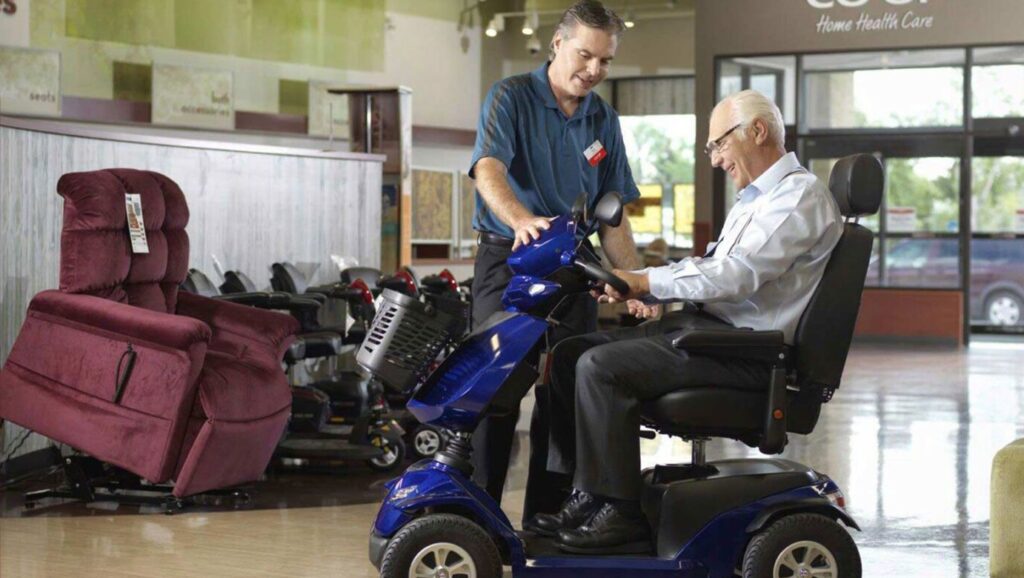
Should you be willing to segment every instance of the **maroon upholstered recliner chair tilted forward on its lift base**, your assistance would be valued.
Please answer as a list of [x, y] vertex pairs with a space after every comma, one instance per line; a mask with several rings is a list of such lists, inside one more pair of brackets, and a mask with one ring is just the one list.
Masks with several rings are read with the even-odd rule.
[[[0, 417], [173, 481], [177, 498], [256, 481], [291, 411], [281, 360], [297, 322], [178, 291], [188, 207], [166, 176], [71, 173], [57, 192], [60, 289], [29, 305], [0, 371]], [[148, 253], [132, 252], [126, 194], [141, 196]]]

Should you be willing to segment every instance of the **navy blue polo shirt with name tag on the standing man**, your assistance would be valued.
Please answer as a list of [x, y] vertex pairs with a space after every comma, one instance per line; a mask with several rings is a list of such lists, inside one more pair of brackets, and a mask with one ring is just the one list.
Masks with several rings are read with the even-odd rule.
[[[596, 141], [606, 156], [592, 166], [585, 151]], [[547, 63], [529, 74], [499, 81], [487, 92], [477, 124], [471, 177], [476, 177], [473, 169], [483, 157], [505, 163], [516, 198], [535, 215], [566, 214], [583, 192], [591, 207], [609, 191], [622, 194], [624, 203], [640, 197], [626, 160], [618, 115], [590, 92], [566, 117], [551, 92]], [[487, 208], [479, 191], [473, 229], [514, 235]]]

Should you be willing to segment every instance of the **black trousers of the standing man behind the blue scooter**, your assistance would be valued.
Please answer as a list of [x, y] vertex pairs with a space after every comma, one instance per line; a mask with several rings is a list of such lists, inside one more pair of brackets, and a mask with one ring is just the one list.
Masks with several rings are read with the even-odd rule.
[[[512, 272], [506, 261], [512, 253], [511, 247], [480, 244], [473, 267], [473, 326], [478, 327], [493, 314], [503, 311], [502, 294], [512, 279]], [[562, 339], [597, 329], [597, 303], [590, 295], [569, 297], [556, 313], [561, 323], [548, 332], [548, 343], [554, 345]], [[543, 345], [543, 343], [542, 343]], [[537, 365], [540, 350], [534, 354]], [[539, 368], [543, 371], [544, 368]], [[526, 482], [526, 499], [523, 520], [528, 520], [538, 511], [558, 509], [568, 493], [571, 479], [547, 469], [548, 448], [548, 387], [538, 386], [535, 391], [537, 403], [530, 419], [529, 474]], [[515, 424], [519, 419], [518, 410], [511, 415], [487, 416], [483, 418], [473, 434], [473, 481], [501, 503], [502, 491], [508, 476]]]

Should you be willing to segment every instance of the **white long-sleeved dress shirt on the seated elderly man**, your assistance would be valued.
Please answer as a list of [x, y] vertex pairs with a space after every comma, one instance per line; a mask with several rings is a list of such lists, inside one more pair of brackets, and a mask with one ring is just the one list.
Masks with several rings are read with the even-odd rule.
[[736, 327], [781, 330], [792, 344], [843, 233], [839, 206], [793, 153], [738, 196], [714, 254], [646, 270], [650, 293], [705, 303]]

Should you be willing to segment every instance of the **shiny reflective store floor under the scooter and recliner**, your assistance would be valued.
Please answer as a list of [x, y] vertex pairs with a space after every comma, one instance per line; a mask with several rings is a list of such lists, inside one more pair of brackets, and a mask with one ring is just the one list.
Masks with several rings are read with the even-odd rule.
[[[1024, 343], [968, 349], [858, 345], [813, 435], [783, 454], [831, 476], [863, 532], [865, 577], [988, 575], [995, 452], [1024, 438]], [[519, 436], [504, 506], [519, 519], [528, 453]], [[709, 459], [756, 455], [709, 444]], [[643, 441], [644, 465], [686, 461]], [[58, 505], [26, 513], [0, 493], [0, 576], [374, 576], [366, 537], [383, 478], [358, 467], [276, 473], [254, 507], [174, 517]], [[356, 503], [365, 502], [365, 503]], [[368, 503], [369, 502], [369, 503]], [[125, 514], [125, 515], [114, 515]], [[1024, 547], [1024, 544], [1022, 544]]]

